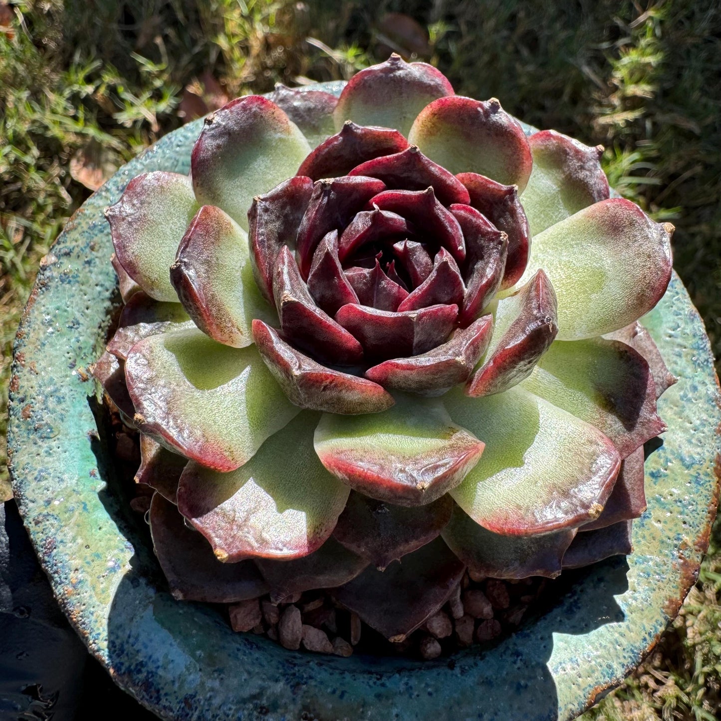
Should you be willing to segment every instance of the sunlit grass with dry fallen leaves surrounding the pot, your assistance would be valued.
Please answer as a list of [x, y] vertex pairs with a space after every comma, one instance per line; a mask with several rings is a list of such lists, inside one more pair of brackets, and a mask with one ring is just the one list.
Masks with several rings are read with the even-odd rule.
[[[208, 90], [208, 74], [232, 97], [347, 78], [415, 47], [387, 12], [428, 30], [420, 59], [459, 92], [606, 146], [611, 184], [676, 224], [676, 269], [721, 357], [715, 0], [20, 0], [9, 12], [0, 0], [0, 494], [12, 337], [40, 257], [89, 195], [73, 176], [88, 159], [110, 172], [180, 125], [183, 88]], [[717, 539], [658, 649], [588, 717], [718, 717], [720, 593]]]

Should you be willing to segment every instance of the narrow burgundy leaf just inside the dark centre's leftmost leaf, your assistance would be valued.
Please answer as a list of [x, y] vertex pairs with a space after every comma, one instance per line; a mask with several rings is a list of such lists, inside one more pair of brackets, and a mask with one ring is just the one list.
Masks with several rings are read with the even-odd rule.
[[298, 267], [308, 278], [315, 249], [324, 235], [353, 218], [373, 195], [386, 186], [376, 178], [354, 177], [318, 180], [298, 229]]

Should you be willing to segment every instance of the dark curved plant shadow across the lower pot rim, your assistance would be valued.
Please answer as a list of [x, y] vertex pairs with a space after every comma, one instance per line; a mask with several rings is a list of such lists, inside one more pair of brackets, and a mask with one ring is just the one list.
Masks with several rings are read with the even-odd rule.
[[[149, 528], [129, 505], [133, 490], [128, 479], [132, 473], [123, 470], [123, 464], [113, 457], [105, 409], [94, 398], [90, 402], [99, 429], [92, 449], [106, 483], [99, 497], [119, 533], [134, 549], [131, 568], [115, 589], [107, 619], [110, 668], [121, 687], [131, 690], [159, 715], [207, 717], [204, 709], [212, 709], [215, 718], [241, 714], [244, 718], [275, 718], [295, 711], [316, 719], [374, 718], [387, 702], [387, 717], [391, 717], [399, 679], [402, 688], [412, 684], [423, 689], [415, 707], [420, 714], [435, 704], [446, 708], [446, 692], [443, 699], [429, 704], [423, 699], [433, 691], [428, 691], [421, 675], [432, 669], [432, 686], [449, 689], [447, 700], [451, 705], [454, 699], [464, 697], [464, 686], [478, 687], [484, 699], [479, 718], [553, 720], [558, 715], [558, 696], [548, 668], [554, 647], [552, 634], [587, 634], [624, 619], [614, 596], [628, 589], [628, 565], [625, 558], [616, 557], [590, 569], [564, 572], [554, 582], [553, 593], [513, 636], [498, 640], [492, 647], [475, 646], [434, 661], [361, 654], [351, 658], [320, 656], [287, 651], [254, 634], [236, 634], [221, 606], [175, 601], [170, 595], [153, 554]], [[541, 619], [542, 630], [536, 625]], [[474, 663], [477, 658], [480, 665]], [[259, 691], [253, 674], [267, 674], [271, 668], [276, 676], [267, 678], [267, 691]], [[304, 679], [314, 678], [317, 669], [323, 678], [311, 686], [321, 690], [305, 689]], [[414, 674], [417, 683], [412, 681]], [[292, 695], [278, 694], [278, 676], [288, 688], [295, 689]], [[323, 691], [329, 688], [324, 681], [340, 688], [335, 694]], [[366, 682], [369, 686], [364, 694]], [[296, 709], [287, 707], [291, 702], [296, 703]], [[368, 707], [371, 702], [373, 707]]]

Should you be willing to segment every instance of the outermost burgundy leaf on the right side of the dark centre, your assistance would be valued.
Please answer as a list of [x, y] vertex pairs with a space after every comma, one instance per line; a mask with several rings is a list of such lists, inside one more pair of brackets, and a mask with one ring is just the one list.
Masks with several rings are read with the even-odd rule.
[[502, 185], [477, 173], [459, 173], [456, 177], [466, 186], [470, 204], [508, 236], [508, 259], [501, 287], [516, 285], [526, 270], [531, 249], [531, 230], [518, 200], [518, 187]]

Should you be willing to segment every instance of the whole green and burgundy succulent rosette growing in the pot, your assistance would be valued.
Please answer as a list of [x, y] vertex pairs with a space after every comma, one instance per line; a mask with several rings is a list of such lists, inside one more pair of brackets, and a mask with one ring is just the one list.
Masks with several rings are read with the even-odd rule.
[[336, 588], [397, 640], [466, 567], [628, 551], [673, 382], [637, 319], [672, 228], [599, 157], [392, 56], [340, 99], [236, 99], [189, 176], [131, 180], [96, 376], [141, 433], [178, 596]]

